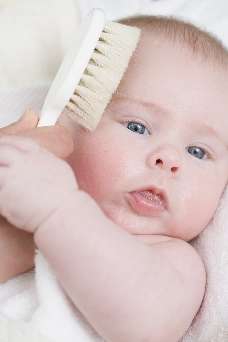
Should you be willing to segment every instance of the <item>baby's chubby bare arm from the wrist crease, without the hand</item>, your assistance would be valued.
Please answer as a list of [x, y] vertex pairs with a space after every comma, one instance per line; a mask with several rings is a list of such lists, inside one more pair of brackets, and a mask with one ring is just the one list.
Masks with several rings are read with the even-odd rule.
[[108, 342], [177, 342], [198, 311], [169, 259], [112, 222], [81, 190], [38, 227], [34, 241]]

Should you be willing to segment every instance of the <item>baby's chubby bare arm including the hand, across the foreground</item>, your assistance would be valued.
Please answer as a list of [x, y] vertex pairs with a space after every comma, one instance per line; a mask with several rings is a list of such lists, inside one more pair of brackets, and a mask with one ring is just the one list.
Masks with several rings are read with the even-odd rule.
[[107, 342], [176, 342], [199, 309], [195, 250], [159, 250], [124, 231], [78, 189], [65, 161], [31, 139], [0, 138], [0, 214], [35, 232], [65, 291]]

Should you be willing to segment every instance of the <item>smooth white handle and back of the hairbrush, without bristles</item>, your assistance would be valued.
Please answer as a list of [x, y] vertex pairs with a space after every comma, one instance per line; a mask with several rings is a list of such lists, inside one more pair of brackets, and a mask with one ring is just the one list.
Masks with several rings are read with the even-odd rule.
[[93, 8], [84, 18], [45, 98], [37, 127], [53, 126], [75, 91], [105, 25], [106, 14]]

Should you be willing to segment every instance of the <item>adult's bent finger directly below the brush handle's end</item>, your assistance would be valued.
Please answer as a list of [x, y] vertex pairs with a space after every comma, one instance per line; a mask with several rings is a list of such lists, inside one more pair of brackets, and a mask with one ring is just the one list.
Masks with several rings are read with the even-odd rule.
[[35, 140], [40, 146], [62, 159], [73, 152], [72, 136], [64, 126], [37, 127], [15, 135], [26, 136]]

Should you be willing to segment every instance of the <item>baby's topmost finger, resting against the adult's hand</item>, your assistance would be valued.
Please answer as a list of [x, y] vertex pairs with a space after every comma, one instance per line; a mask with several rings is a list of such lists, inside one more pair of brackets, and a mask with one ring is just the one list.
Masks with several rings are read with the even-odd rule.
[[28, 152], [33, 149], [40, 148], [40, 145], [34, 140], [16, 135], [5, 135], [0, 137], [0, 148], [2, 145], [14, 146], [22, 152]]

